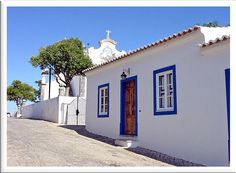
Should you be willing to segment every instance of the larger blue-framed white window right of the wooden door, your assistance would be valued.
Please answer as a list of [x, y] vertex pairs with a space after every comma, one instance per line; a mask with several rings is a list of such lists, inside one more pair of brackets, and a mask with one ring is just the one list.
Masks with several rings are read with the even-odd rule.
[[154, 115], [177, 114], [175, 65], [153, 71]]

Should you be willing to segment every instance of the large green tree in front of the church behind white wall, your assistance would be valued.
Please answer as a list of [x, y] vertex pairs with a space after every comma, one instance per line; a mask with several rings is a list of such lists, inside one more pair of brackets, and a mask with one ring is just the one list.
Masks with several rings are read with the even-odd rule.
[[31, 57], [30, 63], [41, 69], [52, 69], [58, 84], [62, 82], [66, 87], [67, 96], [72, 78], [83, 75], [83, 70], [92, 66], [82, 42], [77, 38], [64, 39], [41, 48], [38, 55]]

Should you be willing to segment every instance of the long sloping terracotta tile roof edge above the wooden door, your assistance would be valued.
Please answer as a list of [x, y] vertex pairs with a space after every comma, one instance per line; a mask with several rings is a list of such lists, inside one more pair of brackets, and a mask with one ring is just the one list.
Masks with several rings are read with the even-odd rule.
[[138, 48], [138, 49], [135, 49], [135, 50], [133, 50], [133, 51], [130, 51], [130, 52], [124, 54], [124, 55], [121, 55], [121, 56], [116, 57], [116, 58], [114, 58], [114, 59], [108, 60], [108, 61], [106, 61], [106, 62], [104, 62], [104, 63], [99, 64], [99, 65], [95, 65], [95, 66], [93, 66], [93, 67], [87, 68], [87, 69], [85, 69], [83, 72], [86, 73], [86, 72], [88, 72], [88, 71], [92, 71], [92, 70], [94, 70], [94, 69], [97, 69], [97, 68], [99, 68], [99, 67], [105, 66], [105, 65], [110, 64], [110, 63], [112, 63], [112, 62], [118, 61], [118, 60], [123, 59], [123, 58], [127, 58], [127, 57], [129, 57], [129, 56], [131, 56], [131, 55], [134, 55], [134, 54], [137, 54], [137, 53], [139, 53], [139, 52], [142, 52], [142, 51], [144, 51], [144, 50], [146, 50], [146, 49], [150, 49], [150, 48], [155, 47], [155, 46], [160, 46], [160, 45], [162, 45], [163, 43], [169, 42], [170, 40], [173, 40], [173, 39], [182, 37], [182, 36], [184, 36], [184, 35], [186, 35], [186, 34], [189, 34], [189, 33], [192, 33], [192, 32], [194, 32], [194, 31], [197, 31], [197, 30], [199, 30], [199, 28], [200, 28], [199, 26], [193, 26], [193, 27], [188, 28], [188, 29], [186, 29], [186, 30], [184, 30], [184, 31], [182, 31], [182, 32], [178, 32], [178, 33], [176, 33], [176, 34], [170, 35], [169, 37], [165, 37], [164, 39], [161, 39], [161, 40], [159, 40], [159, 41], [156, 41], [156, 42], [153, 42], [153, 43], [151, 43], [151, 44], [145, 45], [145, 46], [143, 46], [143, 47], [141, 47], [141, 48]]

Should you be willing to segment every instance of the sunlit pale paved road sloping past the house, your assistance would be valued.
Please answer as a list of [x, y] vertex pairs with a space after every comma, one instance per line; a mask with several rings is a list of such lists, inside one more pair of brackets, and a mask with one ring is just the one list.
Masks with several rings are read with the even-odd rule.
[[171, 166], [54, 123], [8, 118], [8, 166]]

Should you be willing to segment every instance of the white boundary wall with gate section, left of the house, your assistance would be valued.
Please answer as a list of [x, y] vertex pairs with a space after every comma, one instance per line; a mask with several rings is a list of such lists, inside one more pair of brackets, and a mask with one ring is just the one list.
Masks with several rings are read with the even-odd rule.
[[85, 104], [84, 98], [78, 99], [78, 121], [76, 116], [77, 98], [59, 96], [50, 100], [41, 101], [24, 106], [22, 116], [25, 118], [42, 119], [58, 124], [85, 124]]

